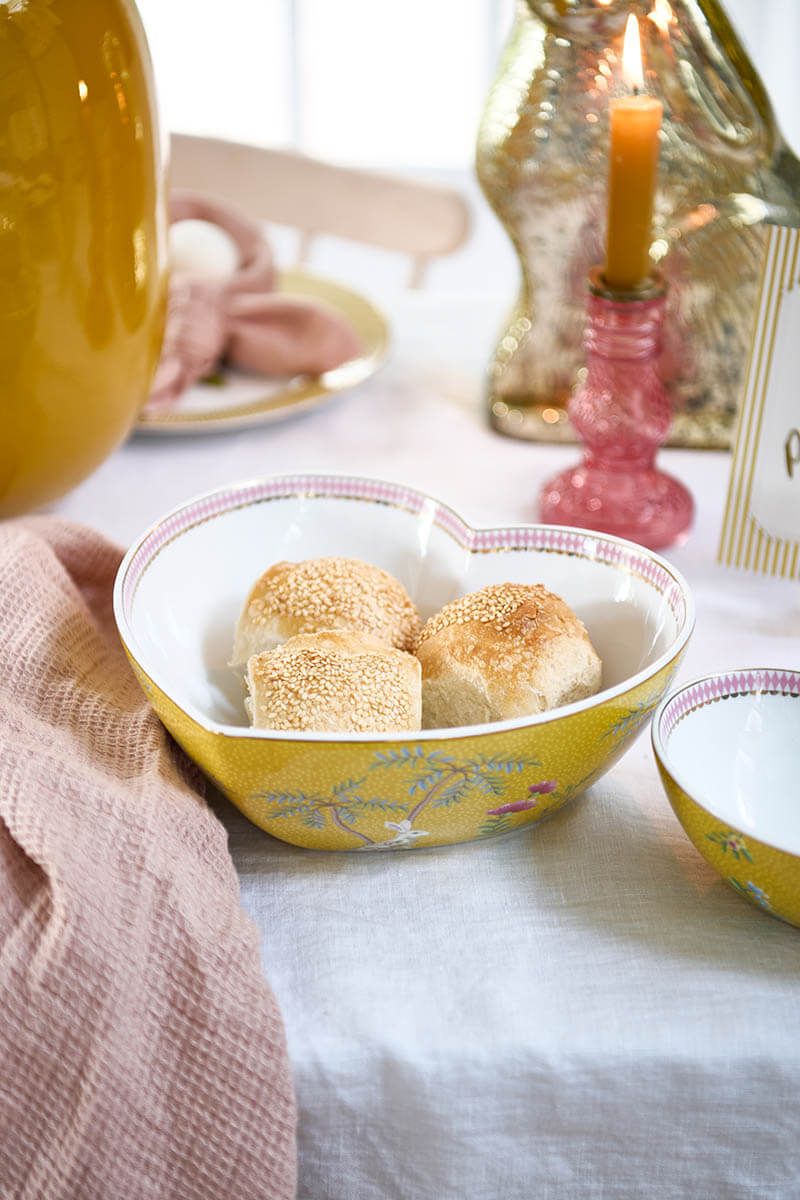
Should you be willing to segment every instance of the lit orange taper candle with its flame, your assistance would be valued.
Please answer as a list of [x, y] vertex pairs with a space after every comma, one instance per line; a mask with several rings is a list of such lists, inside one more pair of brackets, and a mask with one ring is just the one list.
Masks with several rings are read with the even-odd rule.
[[622, 73], [632, 90], [610, 102], [608, 244], [606, 283], [620, 292], [639, 287], [650, 274], [652, 202], [658, 175], [658, 131], [663, 106], [644, 89], [639, 23], [627, 18]]

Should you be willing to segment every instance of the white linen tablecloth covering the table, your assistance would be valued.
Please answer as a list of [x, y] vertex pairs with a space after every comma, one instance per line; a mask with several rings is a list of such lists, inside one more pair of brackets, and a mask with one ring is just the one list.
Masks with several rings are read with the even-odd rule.
[[[535, 520], [576, 451], [486, 427], [500, 311], [397, 296], [392, 361], [357, 391], [282, 426], [136, 438], [58, 511], [128, 542], [198, 492], [320, 469]], [[728, 457], [664, 458], [698, 502], [668, 556], [698, 608], [682, 678], [800, 667], [798, 586], [715, 564]], [[548, 823], [477, 846], [311, 853], [218, 812], [288, 1027], [300, 1200], [800, 1196], [800, 931], [699, 858], [646, 734]]]

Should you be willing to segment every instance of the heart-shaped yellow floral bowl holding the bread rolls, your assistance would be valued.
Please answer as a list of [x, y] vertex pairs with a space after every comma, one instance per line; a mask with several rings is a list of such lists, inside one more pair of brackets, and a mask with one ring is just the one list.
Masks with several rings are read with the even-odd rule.
[[[345, 554], [396, 575], [425, 617], [487, 583], [541, 582], [582, 617], [603, 690], [539, 716], [413, 734], [252, 730], [228, 666], [253, 580], [277, 559]], [[186, 752], [267, 833], [314, 850], [441, 846], [534, 824], [602, 775], [650, 716], [693, 626], [656, 554], [554, 526], [473, 529], [410, 488], [291, 475], [182, 505], [131, 547], [119, 631]]]

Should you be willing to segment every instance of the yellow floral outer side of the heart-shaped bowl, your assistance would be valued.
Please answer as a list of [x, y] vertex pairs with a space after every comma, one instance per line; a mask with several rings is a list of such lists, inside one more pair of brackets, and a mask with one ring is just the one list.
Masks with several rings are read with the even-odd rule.
[[621, 696], [534, 727], [305, 743], [211, 732], [131, 658], [175, 740], [254, 824], [296, 846], [360, 851], [473, 841], [549, 816], [616, 762], [678, 661]]

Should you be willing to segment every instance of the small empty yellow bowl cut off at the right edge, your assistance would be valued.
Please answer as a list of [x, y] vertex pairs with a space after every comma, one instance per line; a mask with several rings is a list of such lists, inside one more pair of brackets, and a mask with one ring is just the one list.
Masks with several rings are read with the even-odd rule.
[[800, 925], [800, 672], [687, 684], [658, 708], [652, 749], [703, 858], [763, 912]]

